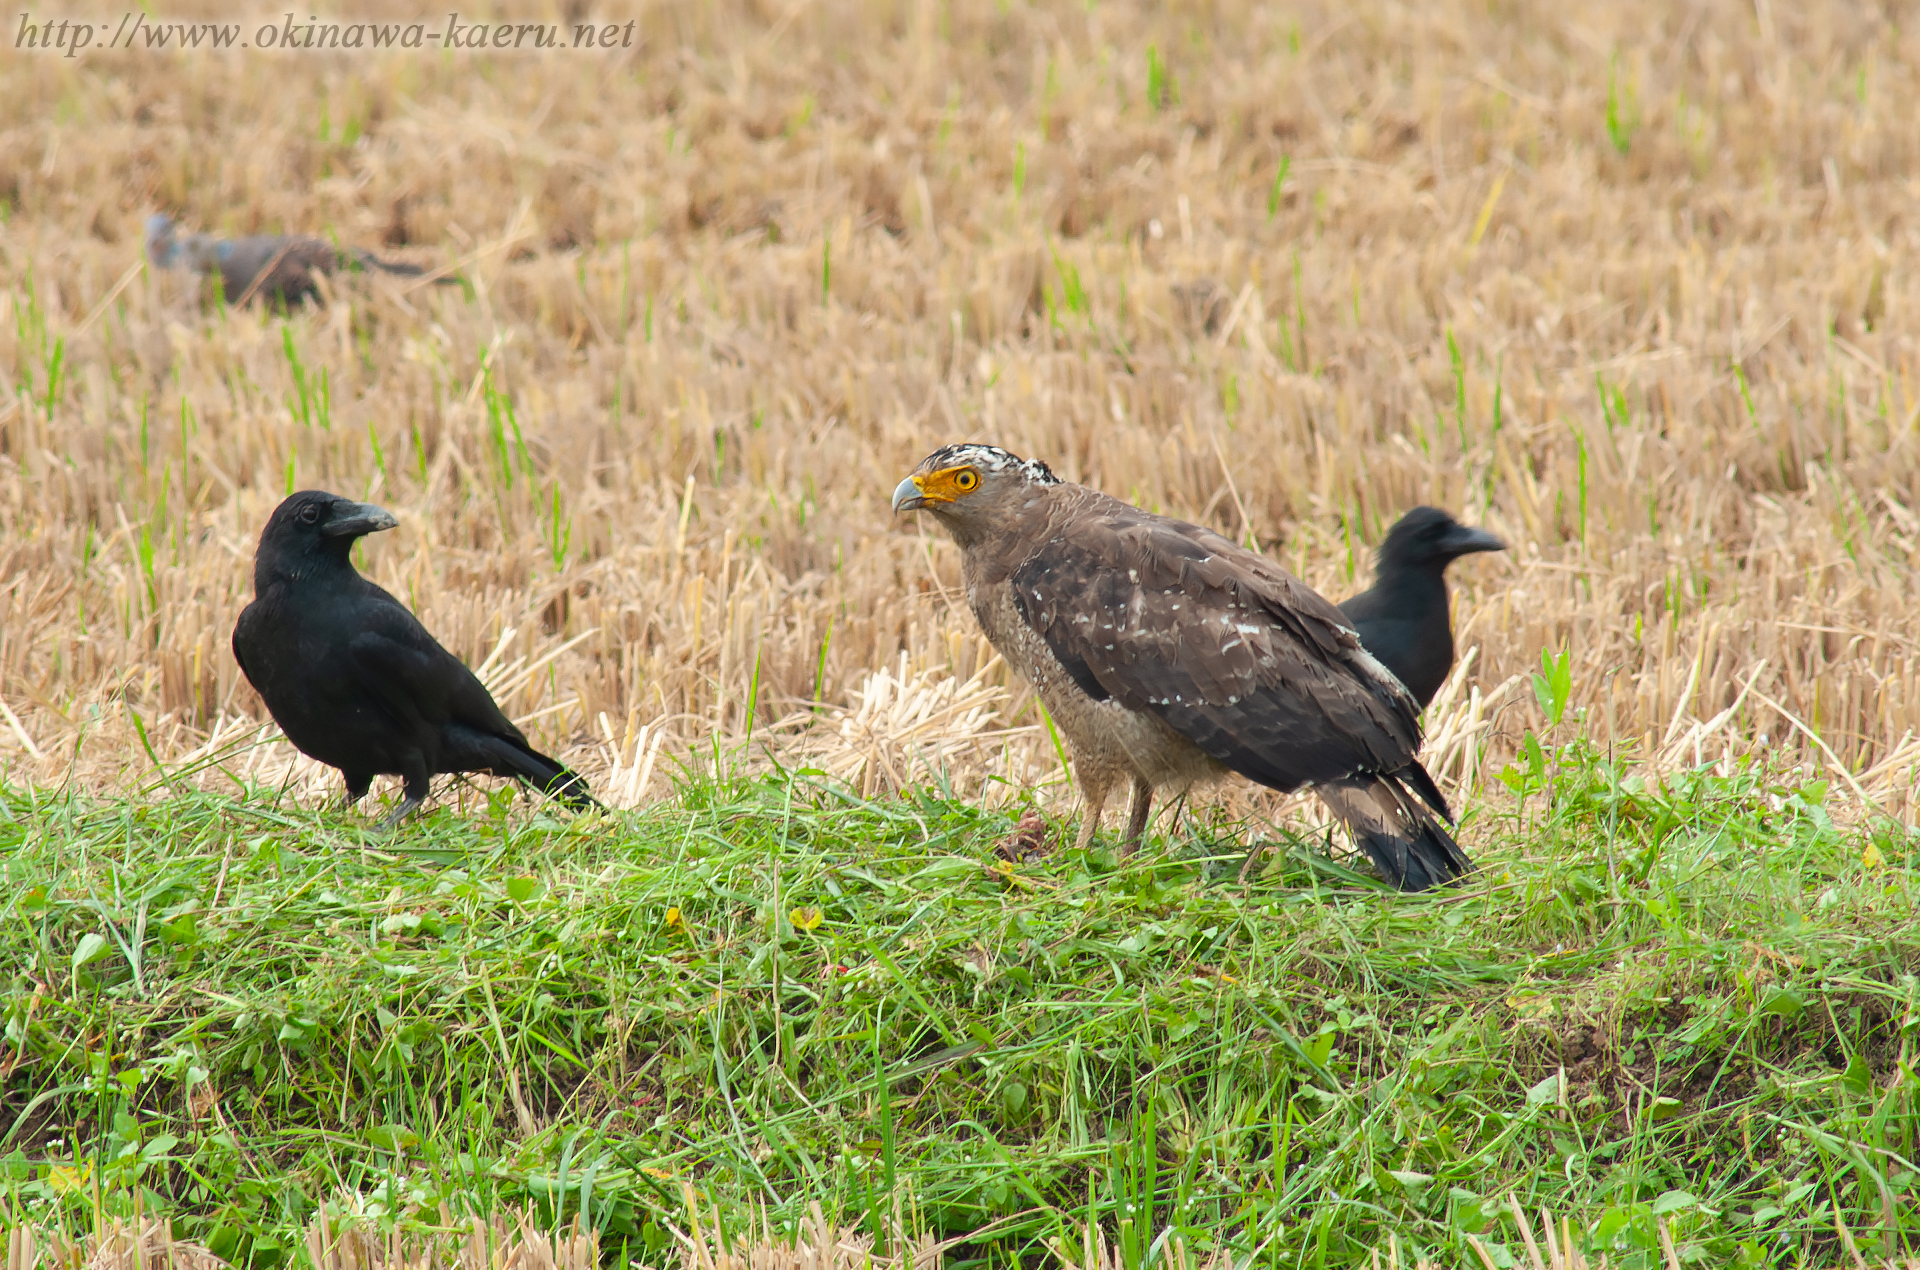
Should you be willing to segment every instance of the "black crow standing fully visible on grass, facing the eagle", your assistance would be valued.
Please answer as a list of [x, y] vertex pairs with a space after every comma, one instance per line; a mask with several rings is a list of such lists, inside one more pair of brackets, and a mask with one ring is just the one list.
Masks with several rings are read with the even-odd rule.
[[401, 776], [407, 797], [388, 822], [419, 807], [442, 772], [513, 776], [599, 807], [586, 780], [526, 744], [459, 657], [353, 569], [353, 542], [397, 523], [323, 490], [290, 496], [267, 521], [234, 661], [286, 740], [340, 769], [348, 803], [374, 776]]

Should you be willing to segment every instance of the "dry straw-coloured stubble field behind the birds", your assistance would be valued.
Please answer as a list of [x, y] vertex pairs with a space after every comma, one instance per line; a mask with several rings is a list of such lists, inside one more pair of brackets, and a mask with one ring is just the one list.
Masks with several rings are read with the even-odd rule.
[[[227, 651], [290, 486], [392, 507], [363, 567], [611, 801], [701, 755], [1058, 780], [887, 511], [977, 438], [1334, 598], [1413, 503], [1505, 536], [1455, 574], [1452, 782], [1567, 649], [1596, 744], [1770, 747], [1910, 818], [1897, 6], [576, 10], [515, 17], [632, 48], [0, 52], [10, 780], [123, 790], [138, 722], [196, 780], [334, 788]], [[470, 286], [227, 311], [142, 269], [154, 209]]]

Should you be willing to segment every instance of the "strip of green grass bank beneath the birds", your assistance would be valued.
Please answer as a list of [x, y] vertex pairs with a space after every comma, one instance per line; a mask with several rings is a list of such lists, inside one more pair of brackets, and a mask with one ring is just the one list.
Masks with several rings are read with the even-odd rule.
[[1240, 880], [1192, 822], [1006, 870], [1012, 813], [808, 774], [388, 836], [271, 790], [8, 790], [0, 1224], [144, 1187], [275, 1266], [349, 1193], [409, 1230], [532, 1203], [660, 1264], [689, 1180], [733, 1230], [899, 1205], [960, 1264], [1089, 1216], [1129, 1266], [1169, 1228], [1463, 1264], [1519, 1251], [1509, 1193], [1617, 1266], [1657, 1218], [1699, 1264], [1828, 1262], [1836, 1216], [1912, 1241], [1910, 832], [1540, 753], [1438, 895], [1300, 842]]

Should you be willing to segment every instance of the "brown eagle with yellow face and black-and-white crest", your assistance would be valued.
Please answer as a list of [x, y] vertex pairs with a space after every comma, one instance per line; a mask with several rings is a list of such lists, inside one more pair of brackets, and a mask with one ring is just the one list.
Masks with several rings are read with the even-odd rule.
[[935, 450], [893, 509], [952, 534], [973, 615], [1073, 747], [1081, 847], [1121, 780], [1133, 847], [1156, 788], [1240, 772], [1311, 786], [1404, 890], [1471, 868], [1413, 757], [1413, 697], [1273, 561], [995, 446]]

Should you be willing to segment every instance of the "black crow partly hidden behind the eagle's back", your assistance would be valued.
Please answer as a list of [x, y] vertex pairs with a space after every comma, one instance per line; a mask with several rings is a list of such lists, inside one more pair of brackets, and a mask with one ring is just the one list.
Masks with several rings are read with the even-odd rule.
[[1407, 686], [1421, 709], [1453, 669], [1446, 567], [1473, 551], [1505, 550], [1484, 528], [1461, 525], [1438, 507], [1415, 507], [1386, 532], [1373, 586], [1340, 603], [1359, 642]]

